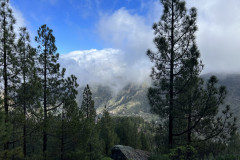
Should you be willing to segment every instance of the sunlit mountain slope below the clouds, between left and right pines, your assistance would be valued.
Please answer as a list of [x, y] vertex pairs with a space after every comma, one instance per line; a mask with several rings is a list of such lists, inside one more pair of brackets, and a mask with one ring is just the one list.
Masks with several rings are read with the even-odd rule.
[[[90, 85], [97, 114], [102, 113], [105, 105], [112, 115], [140, 116], [145, 120], [157, 120], [158, 116], [150, 113], [147, 99], [148, 85], [128, 84], [117, 94], [111, 88], [102, 85]], [[79, 89], [78, 102], [81, 105], [82, 92]]]

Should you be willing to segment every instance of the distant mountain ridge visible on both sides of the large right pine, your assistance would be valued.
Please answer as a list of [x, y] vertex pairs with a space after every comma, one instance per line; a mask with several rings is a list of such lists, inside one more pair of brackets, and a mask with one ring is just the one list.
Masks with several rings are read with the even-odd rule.
[[[201, 77], [207, 80], [211, 75], [216, 75], [219, 85], [227, 87], [228, 95], [226, 104], [231, 106], [236, 117], [240, 117], [240, 74], [204, 74]], [[158, 120], [158, 116], [151, 114], [148, 103], [147, 83], [130, 83], [121, 89], [117, 94], [108, 86], [90, 85], [97, 114], [102, 113], [105, 105], [112, 115], [118, 116], [140, 116], [145, 120]], [[81, 105], [84, 87], [79, 88], [77, 101]], [[239, 125], [240, 126], [240, 125]]]

